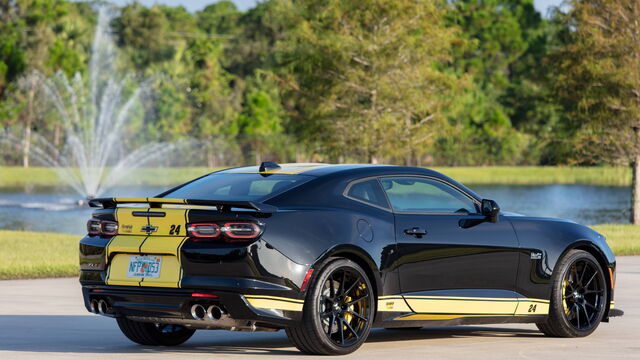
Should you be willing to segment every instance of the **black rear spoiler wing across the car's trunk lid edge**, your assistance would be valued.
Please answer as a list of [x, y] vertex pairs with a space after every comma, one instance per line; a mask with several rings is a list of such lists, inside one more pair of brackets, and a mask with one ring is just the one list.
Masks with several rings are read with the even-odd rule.
[[89, 200], [89, 206], [113, 209], [118, 204], [149, 204], [151, 207], [161, 207], [163, 204], [173, 205], [201, 205], [215, 206], [221, 210], [231, 208], [252, 209], [262, 213], [276, 212], [273, 205], [256, 203], [253, 201], [227, 201], [227, 200], [197, 200], [197, 199], [166, 199], [166, 198], [97, 198]]

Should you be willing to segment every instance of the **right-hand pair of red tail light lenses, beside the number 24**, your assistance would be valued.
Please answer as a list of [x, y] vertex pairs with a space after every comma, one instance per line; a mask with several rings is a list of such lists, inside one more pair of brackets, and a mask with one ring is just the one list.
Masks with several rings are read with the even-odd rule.
[[262, 235], [263, 227], [248, 221], [228, 222], [222, 226], [215, 223], [187, 224], [187, 234], [193, 238], [218, 238], [226, 242], [247, 242]]

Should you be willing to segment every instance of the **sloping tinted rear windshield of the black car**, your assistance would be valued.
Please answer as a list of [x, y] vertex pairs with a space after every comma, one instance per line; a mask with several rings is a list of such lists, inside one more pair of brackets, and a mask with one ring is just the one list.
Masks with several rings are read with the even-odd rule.
[[165, 198], [261, 201], [313, 179], [305, 175], [211, 174], [163, 195]]

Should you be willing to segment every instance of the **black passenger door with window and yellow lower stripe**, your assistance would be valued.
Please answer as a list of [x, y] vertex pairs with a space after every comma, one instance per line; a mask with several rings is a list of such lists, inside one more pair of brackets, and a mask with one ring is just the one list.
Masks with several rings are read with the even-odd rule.
[[393, 207], [400, 287], [411, 309], [442, 316], [505, 316], [514, 292], [518, 241], [505, 219], [486, 221], [478, 200], [431, 177], [380, 178]]

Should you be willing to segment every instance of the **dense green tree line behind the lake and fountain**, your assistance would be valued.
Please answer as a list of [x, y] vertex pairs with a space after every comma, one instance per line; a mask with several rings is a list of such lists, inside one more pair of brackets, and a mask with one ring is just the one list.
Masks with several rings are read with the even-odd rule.
[[[152, 101], [124, 146], [197, 139], [210, 166], [637, 163], [639, 6], [568, 0], [543, 17], [533, 0], [219, 1], [195, 13], [133, 3], [111, 24], [118, 68]], [[85, 74], [94, 10], [0, 1], [5, 129], [63, 146], [20, 82], [32, 70]], [[28, 164], [2, 146], [0, 165]]]

